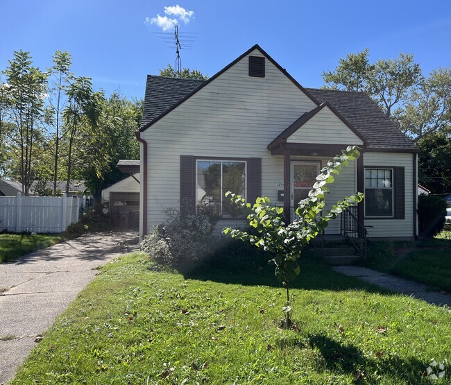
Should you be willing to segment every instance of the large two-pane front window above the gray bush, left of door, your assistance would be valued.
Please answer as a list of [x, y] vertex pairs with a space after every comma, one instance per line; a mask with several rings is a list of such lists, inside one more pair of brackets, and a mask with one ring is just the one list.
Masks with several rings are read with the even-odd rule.
[[237, 206], [224, 194], [246, 198], [245, 160], [196, 160], [196, 205], [209, 205], [223, 218], [237, 216]]

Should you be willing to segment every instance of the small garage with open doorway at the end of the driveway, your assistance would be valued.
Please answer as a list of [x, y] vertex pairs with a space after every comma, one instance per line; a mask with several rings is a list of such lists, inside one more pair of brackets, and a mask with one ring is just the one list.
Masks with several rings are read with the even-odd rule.
[[[130, 176], [102, 191], [102, 203], [108, 207], [113, 225], [139, 227], [139, 160], [119, 160], [120, 171]], [[106, 209], [106, 208], [105, 208]]]

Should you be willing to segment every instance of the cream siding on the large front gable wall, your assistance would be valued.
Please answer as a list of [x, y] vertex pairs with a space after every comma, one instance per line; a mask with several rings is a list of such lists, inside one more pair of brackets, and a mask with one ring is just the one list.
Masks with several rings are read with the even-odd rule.
[[[261, 55], [254, 51], [250, 55]], [[148, 142], [147, 223], [166, 221], [180, 204], [180, 155], [261, 157], [262, 194], [283, 189], [283, 158], [266, 146], [316, 105], [266, 60], [266, 77], [248, 76], [248, 58], [230, 67], [142, 132]]]

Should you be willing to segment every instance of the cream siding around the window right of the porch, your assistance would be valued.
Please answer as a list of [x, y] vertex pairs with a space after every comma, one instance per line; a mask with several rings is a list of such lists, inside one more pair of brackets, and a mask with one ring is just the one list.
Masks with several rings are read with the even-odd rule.
[[368, 237], [414, 237], [414, 155], [364, 153], [364, 166], [405, 167], [405, 219], [365, 219]]

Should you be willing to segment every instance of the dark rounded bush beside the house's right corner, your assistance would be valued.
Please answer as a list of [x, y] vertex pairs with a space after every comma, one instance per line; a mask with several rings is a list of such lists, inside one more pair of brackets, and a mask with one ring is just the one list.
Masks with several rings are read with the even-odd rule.
[[418, 232], [420, 237], [431, 238], [443, 230], [446, 202], [434, 195], [418, 196]]

